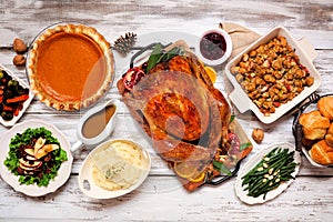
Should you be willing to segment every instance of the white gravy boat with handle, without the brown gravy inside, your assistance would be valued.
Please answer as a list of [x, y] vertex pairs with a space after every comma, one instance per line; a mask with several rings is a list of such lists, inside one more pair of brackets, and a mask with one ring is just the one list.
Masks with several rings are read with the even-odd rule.
[[[91, 118], [92, 115], [97, 114], [98, 112], [102, 111], [103, 109], [105, 109], [107, 107], [112, 105], [112, 104], [114, 105], [115, 110], [114, 110], [114, 113], [112, 114], [112, 117], [110, 118], [109, 122], [105, 124], [104, 129], [97, 137], [93, 137], [93, 138], [84, 137], [82, 133], [82, 130], [83, 130], [83, 125], [84, 125], [85, 121], [88, 121], [89, 118]], [[77, 141], [72, 145], [72, 149], [71, 149], [72, 152], [80, 149], [83, 143], [88, 144], [88, 145], [93, 145], [93, 144], [100, 143], [103, 140], [105, 140], [113, 132], [113, 130], [115, 128], [117, 120], [118, 120], [117, 113], [119, 111], [119, 105], [120, 105], [120, 102], [118, 100], [109, 100], [104, 104], [97, 105], [97, 107], [92, 108], [91, 110], [89, 110], [80, 119], [80, 122], [78, 124], [77, 137], [78, 137], [79, 141]]]

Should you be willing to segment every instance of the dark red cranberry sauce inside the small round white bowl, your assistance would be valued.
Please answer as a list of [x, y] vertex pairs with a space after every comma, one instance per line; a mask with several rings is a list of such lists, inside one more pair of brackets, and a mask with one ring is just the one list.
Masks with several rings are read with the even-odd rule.
[[211, 32], [200, 41], [200, 51], [202, 56], [209, 60], [218, 60], [223, 57], [226, 50], [226, 42], [222, 34]]

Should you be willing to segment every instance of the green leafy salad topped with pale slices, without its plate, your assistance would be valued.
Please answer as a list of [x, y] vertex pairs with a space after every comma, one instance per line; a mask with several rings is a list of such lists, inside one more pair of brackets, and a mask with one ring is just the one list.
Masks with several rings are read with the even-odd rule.
[[4, 165], [19, 176], [20, 184], [48, 186], [67, 160], [67, 152], [51, 131], [28, 128], [11, 139]]

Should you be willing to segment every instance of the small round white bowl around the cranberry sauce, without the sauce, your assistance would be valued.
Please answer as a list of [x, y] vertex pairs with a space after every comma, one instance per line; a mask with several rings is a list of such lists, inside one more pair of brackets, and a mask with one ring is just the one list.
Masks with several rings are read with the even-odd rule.
[[[209, 58], [204, 57], [204, 54], [201, 51], [201, 42], [202, 42], [203, 38], [210, 33], [218, 33], [219, 36], [223, 37], [223, 39], [225, 41], [224, 54], [219, 59], [213, 59], [213, 60], [209, 59]], [[196, 48], [195, 51], [198, 52], [196, 54], [203, 63], [209, 64], [209, 65], [219, 65], [219, 64], [222, 64], [223, 62], [225, 62], [230, 58], [231, 52], [232, 52], [232, 40], [226, 31], [224, 31], [222, 29], [210, 29], [210, 30], [204, 31], [202, 34], [200, 34], [195, 48]]]

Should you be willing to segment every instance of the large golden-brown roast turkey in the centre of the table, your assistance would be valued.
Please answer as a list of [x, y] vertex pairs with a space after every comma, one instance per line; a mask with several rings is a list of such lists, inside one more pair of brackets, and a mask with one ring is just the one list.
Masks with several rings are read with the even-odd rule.
[[184, 41], [163, 53], [175, 48], [179, 54], [130, 69], [117, 85], [161, 158], [171, 165], [191, 162], [200, 174], [228, 148], [231, 109]]

